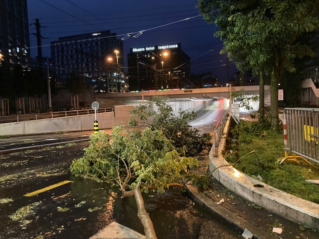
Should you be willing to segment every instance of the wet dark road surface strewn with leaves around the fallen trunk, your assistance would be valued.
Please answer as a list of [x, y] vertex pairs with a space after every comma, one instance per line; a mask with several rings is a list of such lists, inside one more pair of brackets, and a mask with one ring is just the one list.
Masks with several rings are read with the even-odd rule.
[[[45, 139], [60, 136], [42, 137], [3, 139], [0, 147], [17, 148], [18, 142], [28, 147], [53, 142]], [[80, 158], [87, 145], [68, 142], [0, 155], [0, 238], [88, 239], [113, 221], [144, 234], [133, 197], [121, 199], [117, 188], [70, 176], [72, 160]], [[72, 182], [24, 196], [66, 180]], [[146, 195], [145, 204], [159, 239], [240, 237], [239, 232], [202, 211], [180, 190]]]

